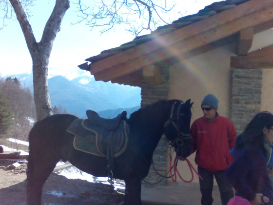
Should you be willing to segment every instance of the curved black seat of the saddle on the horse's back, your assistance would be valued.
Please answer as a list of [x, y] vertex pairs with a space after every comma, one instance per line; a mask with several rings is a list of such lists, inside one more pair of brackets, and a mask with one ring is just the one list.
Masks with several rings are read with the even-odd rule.
[[106, 118], [100, 117], [98, 113], [95, 112], [94, 110], [86, 110], [86, 116], [88, 120], [90, 121], [90, 123], [97, 124], [108, 130], [113, 130], [117, 127], [120, 121], [126, 120], [127, 112], [124, 110], [122, 111], [122, 113], [118, 114], [117, 117], [113, 119], [106, 119]]

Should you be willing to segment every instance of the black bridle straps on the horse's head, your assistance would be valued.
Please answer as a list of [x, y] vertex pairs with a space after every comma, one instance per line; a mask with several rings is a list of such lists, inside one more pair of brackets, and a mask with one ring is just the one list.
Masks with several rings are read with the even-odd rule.
[[[180, 114], [179, 110], [181, 107], [181, 103], [179, 103], [177, 110], [176, 110], [176, 115], [174, 114], [174, 109], [176, 106], [176, 103], [173, 103], [172, 108], [171, 108], [171, 114], [170, 114], [170, 118], [169, 120], [164, 124], [164, 129], [169, 126], [170, 124], [172, 124], [175, 129], [176, 129], [176, 133], [177, 133], [177, 137], [176, 139], [174, 139], [173, 141], [171, 141], [171, 143], [169, 143], [171, 146], [174, 146], [175, 144], [178, 145], [179, 147], [182, 147], [184, 144], [184, 140], [189, 140], [192, 139], [192, 136], [190, 134], [184, 134], [183, 132], [180, 131], [180, 124], [179, 124], [179, 118], [181, 116], [183, 116], [184, 114]], [[176, 120], [176, 122], [175, 122]]]

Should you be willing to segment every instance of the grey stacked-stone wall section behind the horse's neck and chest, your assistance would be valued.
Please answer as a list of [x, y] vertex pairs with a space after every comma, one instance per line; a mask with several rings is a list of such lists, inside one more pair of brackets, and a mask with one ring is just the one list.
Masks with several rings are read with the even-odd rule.
[[[162, 68], [163, 82], [160, 85], [152, 85], [146, 82], [142, 82], [141, 86], [141, 107], [154, 103], [158, 100], [168, 100], [169, 95], [169, 67]], [[156, 171], [160, 175], [165, 175], [167, 170], [167, 141], [163, 135], [156, 147], [153, 155], [153, 162]], [[156, 183], [161, 180], [162, 177], [156, 174], [153, 165], [150, 167], [148, 176], [144, 179], [148, 183]], [[161, 180], [158, 184], [165, 185], [166, 179]], [[145, 183], [145, 185], [148, 185]]]

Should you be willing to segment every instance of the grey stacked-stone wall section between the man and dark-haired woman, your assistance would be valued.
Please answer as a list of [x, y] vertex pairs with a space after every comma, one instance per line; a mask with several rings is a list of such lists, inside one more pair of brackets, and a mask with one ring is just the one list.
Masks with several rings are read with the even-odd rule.
[[262, 69], [233, 69], [231, 121], [237, 135], [261, 109]]

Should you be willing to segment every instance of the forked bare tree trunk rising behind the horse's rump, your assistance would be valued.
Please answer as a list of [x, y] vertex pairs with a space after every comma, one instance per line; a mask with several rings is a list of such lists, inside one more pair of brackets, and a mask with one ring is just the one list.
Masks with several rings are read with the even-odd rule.
[[55, 7], [49, 17], [40, 42], [37, 42], [31, 25], [27, 20], [20, 0], [9, 0], [23, 31], [28, 50], [32, 58], [34, 102], [37, 121], [52, 115], [52, 107], [48, 91], [48, 62], [53, 41], [60, 30], [62, 18], [69, 8], [69, 0], [56, 0]]

